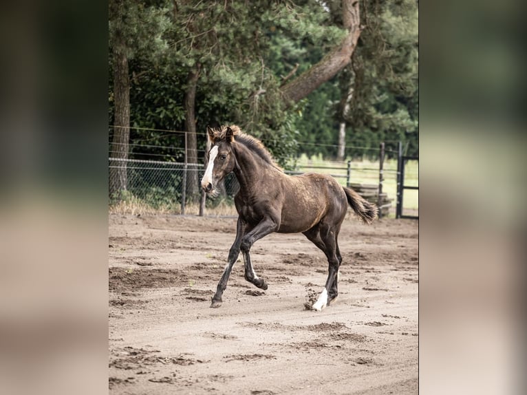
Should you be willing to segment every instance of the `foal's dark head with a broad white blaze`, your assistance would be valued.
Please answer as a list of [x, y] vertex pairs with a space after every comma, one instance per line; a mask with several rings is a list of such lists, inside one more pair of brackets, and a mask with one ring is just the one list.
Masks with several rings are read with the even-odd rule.
[[207, 132], [211, 149], [207, 152], [208, 164], [202, 178], [202, 188], [206, 193], [214, 193], [217, 184], [234, 169], [235, 156], [232, 143], [235, 134], [239, 133], [239, 128], [224, 127], [215, 130], [207, 127]]

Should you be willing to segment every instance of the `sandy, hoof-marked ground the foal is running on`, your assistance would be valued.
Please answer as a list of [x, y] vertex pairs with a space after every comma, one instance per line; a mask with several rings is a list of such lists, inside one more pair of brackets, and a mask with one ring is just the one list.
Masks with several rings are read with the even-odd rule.
[[[303, 235], [252, 247], [269, 288], [237, 262], [210, 299], [235, 218], [109, 217], [111, 394], [417, 394], [418, 222], [349, 216], [338, 301], [322, 312], [327, 261]], [[240, 258], [241, 259], [241, 258]]]

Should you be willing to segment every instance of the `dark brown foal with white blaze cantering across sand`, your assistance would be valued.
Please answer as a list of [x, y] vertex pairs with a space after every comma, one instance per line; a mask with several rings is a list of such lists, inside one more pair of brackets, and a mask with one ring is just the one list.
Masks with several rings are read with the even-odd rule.
[[228, 253], [222, 278], [212, 297], [211, 308], [222, 306], [222, 295], [239, 253], [244, 258], [244, 277], [262, 290], [268, 285], [255, 273], [250, 248], [270, 233], [303, 233], [327, 258], [329, 273], [324, 289], [311, 306], [321, 311], [338, 296], [338, 269], [342, 263], [338, 233], [347, 206], [366, 224], [376, 219], [378, 209], [330, 175], [288, 175], [278, 166], [260, 140], [236, 125], [211, 129], [208, 134], [208, 164], [201, 186], [215, 194], [217, 185], [233, 172], [239, 182], [235, 195], [238, 213], [236, 237]]

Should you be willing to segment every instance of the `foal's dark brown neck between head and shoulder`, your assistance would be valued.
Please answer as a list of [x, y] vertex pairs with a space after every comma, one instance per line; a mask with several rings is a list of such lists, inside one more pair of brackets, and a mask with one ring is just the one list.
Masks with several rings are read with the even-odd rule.
[[266, 178], [266, 173], [274, 171], [271, 164], [244, 145], [237, 145], [235, 156], [237, 164], [234, 173], [242, 191], [252, 191], [255, 184]]

